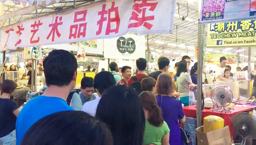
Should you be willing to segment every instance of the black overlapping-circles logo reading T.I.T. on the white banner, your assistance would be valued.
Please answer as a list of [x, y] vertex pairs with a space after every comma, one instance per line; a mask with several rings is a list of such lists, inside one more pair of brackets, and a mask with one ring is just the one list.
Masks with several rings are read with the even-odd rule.
[[135, 41], [132, 38], [119, 37], [116, 46], [120, 53], [128, 52], [132, 54], [136, 49]]

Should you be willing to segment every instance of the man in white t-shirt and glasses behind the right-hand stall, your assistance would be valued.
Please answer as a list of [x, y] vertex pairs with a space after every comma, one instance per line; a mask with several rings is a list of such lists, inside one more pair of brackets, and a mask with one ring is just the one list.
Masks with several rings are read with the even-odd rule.
[[227, 81], [227, 79], [224, 78], [224, 71], [225, 66], [227, 64], [227, 58], [224, 56], [220, 58], [220, 66], [217, 67], [215, 71], [215, 79], [216, 81]]

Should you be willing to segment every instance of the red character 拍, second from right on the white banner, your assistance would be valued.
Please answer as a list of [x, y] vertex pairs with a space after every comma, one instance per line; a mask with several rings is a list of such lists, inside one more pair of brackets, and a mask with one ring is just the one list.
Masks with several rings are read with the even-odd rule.
[[[101, 19], [97, 21], [97, 25], [99, 25], [99, 30], [96, 32], [96, 35], [100, 35], [102, 31], [103, 22], [107, 21], [107, 17], [104, 17], [104, 15], [108, 14], [108, 24], [106, 28], [106, 35], [109, 35], [109, 33], [118, 33], [119, 26], [120, 26], [120, 17], [118, 13], [118, 7], [114, 7], [115, 2], [112, 2], [111, 8], [106, 10], [106, 4], [102, 5], [102, 11], [98, 12], [98, 15], [101, 16]], [[114, 12], [114, 18], [110, 17], [111, 12]], [[116, 22], [116, 28], [111, 29], [111, 22]]]

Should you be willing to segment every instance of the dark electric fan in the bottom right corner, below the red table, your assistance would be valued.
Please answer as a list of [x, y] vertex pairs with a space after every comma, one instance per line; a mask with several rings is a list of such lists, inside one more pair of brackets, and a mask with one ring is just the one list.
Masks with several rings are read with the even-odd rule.
[[238, 113], [232, 119], [232, 126], [235, 131], [242, 137], [241, 145], [245, 145], [247, 137], [256, 139], [256, 117], [249, 113]]

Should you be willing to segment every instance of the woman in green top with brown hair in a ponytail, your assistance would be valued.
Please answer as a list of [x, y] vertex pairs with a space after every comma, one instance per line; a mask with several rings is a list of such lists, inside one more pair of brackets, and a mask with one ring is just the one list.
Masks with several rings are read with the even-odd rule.
[[139, 99], [146, 118], [143, 144], [169, 145], [170, 129], [161, 116], [155, 95], [144, 91], [139, 95]]

